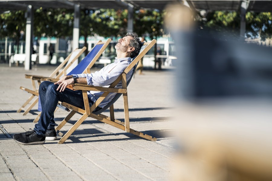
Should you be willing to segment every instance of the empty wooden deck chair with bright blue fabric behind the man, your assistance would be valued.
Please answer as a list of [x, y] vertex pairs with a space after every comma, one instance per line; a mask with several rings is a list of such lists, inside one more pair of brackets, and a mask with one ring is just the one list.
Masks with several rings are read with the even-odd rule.
[[[104, 50], [106, 49], [106, 47], [108, 46], [108, 44], [110, 42], [111, 42], [110, 38], [108, 38], [108, 40], [103, 41], [103, 42], [100, 40], [98, 43], [96, 43], [96, 45], [92, 48], [92, 50], [88, 53], [88, 55], [86, 57], [84, 57], [84, 59], [82, 59], [79, 62], [79, 64], [72, 71], [70, 71], [68, 74], [65, 74], [65, 75], [90, 73], [90, 68], [92, 68], [92, 66], [95, 64], [96, 60], [101, 56], [102, 52], [104, 52]], [[58, 81], [59, 78], [60, 77], [42, 78], [41, 80], [42, 81]], [[39, 105], [39, 107], [41, 108], [40, 105]], [[58, 109], [58, 107], [56, 108], [56, 110], [57, 109]], [[55, 112], [56, 112], [56, 110], [55, 110]], [[41, 111], [41, 110], [39, 110], [39, 111]], [[34, 119], [33, 122], [38, 122], [38, 120], [40, 119], [40, 114], [41, 114], [41, 112], [38, 114], [38, 116]]]

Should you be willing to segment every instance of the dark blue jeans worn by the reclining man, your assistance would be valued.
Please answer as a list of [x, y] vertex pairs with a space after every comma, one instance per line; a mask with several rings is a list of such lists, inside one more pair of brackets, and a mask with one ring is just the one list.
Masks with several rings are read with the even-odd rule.
[[[58, 101], [66, 102], [77, 106], [84, 107], [83, 94], [81, 90], [71, 90], [66, 88], [63, 92], [57, 91], [59, 85], [54, 85], [53, 82], [44, 81], [40, 84], [39, 96], [42, 106], [42, 112], [38, 123], [35, 125], [34, 130], [38, 135], [45, 135], [47, 129], [55, 128], [54, 111], [57, 107]], [[93, 101], [89, 99], [90, 106]], [[97, 107], [93, 112], [101, 109]]]

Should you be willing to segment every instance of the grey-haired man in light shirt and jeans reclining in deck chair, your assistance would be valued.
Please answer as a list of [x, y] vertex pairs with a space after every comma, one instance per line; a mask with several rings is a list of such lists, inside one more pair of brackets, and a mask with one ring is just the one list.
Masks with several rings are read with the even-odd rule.
[[[131, 58], [137, 56], [141, 50], [141, 41], [136, 33], [127, 33], [125, 37], [120, 38], [115, 45], [117, 57], [112, 64], [91, 74], [66, 75], [60, 78], [56, 83], [44, 81], [40, 84], [39, 96], [42, 106], [40, 120], [35, 125], [34, 130], [13, 135], [15, 141], [21, 144], [43, 144], [45, 140], [57, 139], [57, 133], [54, 129], [54, 110], [58, 101], [70, 103], [74, 106], [85, 108], [81, 90], [66, 89], [67, 85], [73, 83], [88, 84], [93, 86], [109, 87], [125, 68], [131, 63]], [[132, 71], [129, 71], [127, 81], [131, 77]], [[121, 81], [115, 86], [122, 87]], [[90, 106], [103, 94], [103, 92], [88, 91]], [[100, 110], [112, 100], [116, 93], [110, 93], [99, 104], [93, 112]]]

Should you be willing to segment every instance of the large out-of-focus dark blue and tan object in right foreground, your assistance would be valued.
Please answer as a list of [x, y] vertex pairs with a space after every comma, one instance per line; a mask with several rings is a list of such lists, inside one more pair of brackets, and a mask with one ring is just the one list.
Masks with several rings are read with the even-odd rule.
[[174, 180], [272, 180], [272, 49], [194, 31], [178, 8]]

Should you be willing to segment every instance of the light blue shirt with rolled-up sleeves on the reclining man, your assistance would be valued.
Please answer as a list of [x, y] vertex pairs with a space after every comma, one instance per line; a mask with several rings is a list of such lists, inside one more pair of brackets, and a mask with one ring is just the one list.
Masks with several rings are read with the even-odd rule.
[[[131, 63], [130, 57], [121, 59], [117, 59], [117, 57], [115, 57], [115, 61], [113, 63], [108, 64], [99, 71], [90, 74], [73, 74], [73, 76], [86, 78], [88, 85], [98, 87], [109, 87], [110, 84], [112, 84], [112, 82], [114, 82], [121, 75], [121, 73], [125, 70], [125, 68], [128, 67], [130, 63]], [[126, 75], [127, 81], [130, 79], [132, 72], [133, 68]], [[122, 88], [122, 81], [120, 81], [115, 86], [115, 88]], [[96, 102], [96, 100], [103, 93], [104, 92], [87, 91], [88, 97], [93, 102]], [[105, 97], [105, 99], [99, 104], [99, 107], [104, 107], [105, 105], [107, 105], [107, 103], [109, 103], [116, 94], [117, 93], [109, 93], [107, 97]]]

